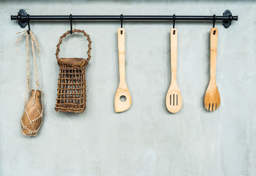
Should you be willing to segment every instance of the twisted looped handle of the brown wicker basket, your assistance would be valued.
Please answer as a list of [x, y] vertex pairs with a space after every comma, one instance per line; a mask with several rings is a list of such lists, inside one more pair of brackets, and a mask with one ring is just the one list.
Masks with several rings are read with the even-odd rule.
[[[75, 33], [75, 32], [78, 32], [78, 33], [81, 32], [81, 33], [84, 34], [85, 37], [87, 37], [87, 40], [88, 40], [89, 44], [88, 44], [88, 51], [87, 51], [88, 58], [87, 58], [86, 60], [87, 60], [87, 63], [88, 63], [88, 62], [89, 62], [89, 59], [91, 59], [91, 50], [92, 50], [91, 44], [92, 44], [92, 41], [89, 39], [89, 34], [87, 34], [86, 32], [84, 32], [84, 30], [73, 29], [73, 30], [72, 30], [72, 33]], [[64, 37], [66, 37], [67, 34], [70, 34], [70, 30], [67, 31], [67, 32], [65, 32], [64, 34], [62, 34], [61, 37], [59, 37], [59, 43], [58, 43], [58, 45], [56, 45], [57, 49], [56, 49], [56, 54], [55, 54], [57, 60], [59, 60], [59, 46], [60, 46], [60, 44], [62, 44], [62, 39], [63, 39]]]

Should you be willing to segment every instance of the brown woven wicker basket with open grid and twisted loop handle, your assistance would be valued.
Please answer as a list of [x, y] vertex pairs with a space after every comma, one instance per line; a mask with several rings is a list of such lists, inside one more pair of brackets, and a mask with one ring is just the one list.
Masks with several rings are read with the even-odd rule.
[[87, 37], [89, 42], [88, 58], [59, 58], [59, 46], [62, 44], [62, 39], [70, 34], [70, 31], [65, 32], [59, 38], [59, 43], [56, 45], [56, 59], [59, 65], [58, 93], [55, 106], [57, 112], [78, 113], [83, 112], [86, 107], [85, 67], [91, 58], [92, 42], [84, 30], [73, 29], [72, 33], [75, 32], [82, 33]]

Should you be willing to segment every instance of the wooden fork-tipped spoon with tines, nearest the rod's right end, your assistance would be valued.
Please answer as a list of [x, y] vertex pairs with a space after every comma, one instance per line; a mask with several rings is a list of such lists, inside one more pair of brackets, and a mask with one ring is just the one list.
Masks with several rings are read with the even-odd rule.
[[216, 59], [217, 59], [217, 42], [218, 29], [211, 29], [211, 78], [208, 88], [205, 92], [205, 109], [215, 111], [219, 108], [221, 98], [216, 84]]

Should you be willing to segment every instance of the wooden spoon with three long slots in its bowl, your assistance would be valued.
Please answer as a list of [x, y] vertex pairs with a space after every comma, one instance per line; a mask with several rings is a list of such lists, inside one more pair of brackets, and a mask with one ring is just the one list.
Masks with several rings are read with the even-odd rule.
[[171, 29], [171, 70], [172, 81], [167, 92], [166, 105], [168, 111], [176, 113], [182, 107], [182, 97], [177, 84], [177, 29]]

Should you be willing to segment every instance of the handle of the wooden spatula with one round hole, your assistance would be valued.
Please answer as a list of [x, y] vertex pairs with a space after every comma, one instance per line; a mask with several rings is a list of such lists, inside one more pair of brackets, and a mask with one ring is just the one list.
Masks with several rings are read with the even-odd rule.
[[117, 29], [120, 87], [125, 86], [125, 29]]

